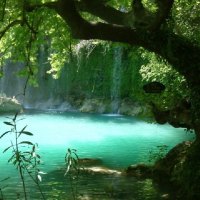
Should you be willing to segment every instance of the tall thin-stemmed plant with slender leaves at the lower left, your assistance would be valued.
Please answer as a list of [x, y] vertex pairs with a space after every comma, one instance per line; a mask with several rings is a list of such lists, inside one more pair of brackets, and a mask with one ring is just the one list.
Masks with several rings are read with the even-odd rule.
[[20, 140], [20, 137], [22, 135], [32, 136], [33, 134], [29, 131], [26, 131], [27, 126], [24, 126], [20, 131], [18, 131], [17, 123], [22, 119], [17, 119], [17, 116], [18, 113], [16, 113], [13, 118], [8, 117], [10, 120], [4, 122], [10, 127], [10, 130], [3, 133], [0, 136], [0, 139], [7, 134], [12, 134], [14, 139], [11, 140], [11, 145], [4, 149], [3, 153], [8, 151], [9, 149], [12, 149], [12, 155], [8, 159], [8, 162], [16, 166], [19, 172], [25, 200], [27, 200], [27, 191], [25, 184], [26, 174], [31, 177], [33, 182], [39, 188], [42, 198], [45, 199], [39, 184], [39, 181], [41, 181], [41, 174], [44, 173], [38, 168], [38, 165], [40, 164], [40, 156], [36, 152], [37, 144], [33, 144], [32, 142], [27, 140]]

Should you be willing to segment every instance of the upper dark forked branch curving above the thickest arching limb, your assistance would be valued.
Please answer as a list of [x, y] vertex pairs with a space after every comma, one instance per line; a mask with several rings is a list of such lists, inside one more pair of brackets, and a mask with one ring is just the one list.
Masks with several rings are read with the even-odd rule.
[[88, 12], [110, 24], [155, 31], [165, 22], [173, 2], [174, 0], [157, 0], [156, 14], [145, 9], [141, 0], [133, 0], [132, 10], [129, 12], [119, 11], [99, 0], [75, 0], [75, 5], [78, 11]]

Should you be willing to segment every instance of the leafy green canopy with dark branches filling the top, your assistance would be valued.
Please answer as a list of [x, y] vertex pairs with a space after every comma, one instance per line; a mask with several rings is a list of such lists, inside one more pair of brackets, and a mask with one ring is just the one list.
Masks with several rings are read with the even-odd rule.
[[194, 59], [188, 52], [199, 52], [199, 0], [2, 0], [0, 4], [1, 66], [10, 58], [25, 61], [31, 75], [37, 72], [41, 45], [50, 47], [50, 73], [59, 72], [78, 42], [75, 39], [142, 46], [184, 75]]

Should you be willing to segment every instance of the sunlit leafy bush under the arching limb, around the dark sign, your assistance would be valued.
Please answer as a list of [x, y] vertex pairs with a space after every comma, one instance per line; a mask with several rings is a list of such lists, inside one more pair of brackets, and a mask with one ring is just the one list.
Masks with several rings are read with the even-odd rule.
[[161, 94], [147, 95], [146, 101], [152, 101], [161, 109], [170, 109], [182, 99], [189, 99], [189, 88], [185, 78], [172, 68], [165, 60], [154, 53], [143, 52], [142, 58], [147, 61], [140, 69], [143, 83], [160, 82], [166, 86]]

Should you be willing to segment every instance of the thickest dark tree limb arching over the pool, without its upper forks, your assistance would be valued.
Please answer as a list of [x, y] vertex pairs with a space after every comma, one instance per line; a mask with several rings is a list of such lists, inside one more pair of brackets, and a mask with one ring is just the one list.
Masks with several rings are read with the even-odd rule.
[[[164, 6], [164, 4], [162, 5]], [[73, 0], [60, 0], [56, 9], [77, 39], [100, 39], [144, 47], [168, 60], [186, 77], [192, 71], [189, 67], [190, 63], [194, 63], [193, 60], [195, 60], [196, 65], [193, 66], [193, 72], [200, 73], [198, 64], [200, 63], [200, 58], [196, 56], [200, 54], [199, 47], [188, 43], [173, 32], [168, 33], [161, 29], [154, 32], [146, 32], [113, 24], [90, 23], [81, 17]], [[177, 55], [179, 51], [181, 51], [181, 54]]]

